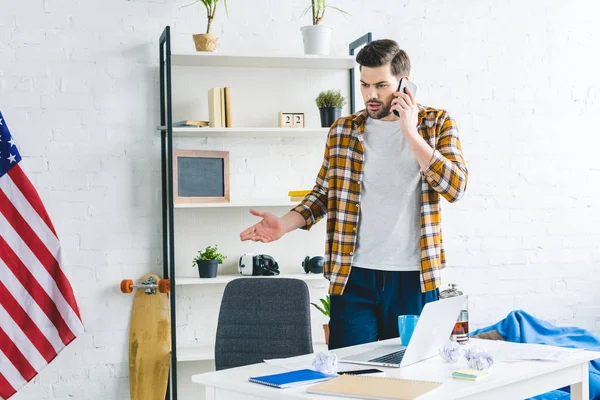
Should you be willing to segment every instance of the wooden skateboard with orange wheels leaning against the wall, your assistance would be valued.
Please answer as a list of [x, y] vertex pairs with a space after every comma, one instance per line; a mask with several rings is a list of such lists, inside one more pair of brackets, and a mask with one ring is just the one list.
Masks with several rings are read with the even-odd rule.
[[121, 292], [135, 290], [129, 324], [129, 391], [131, 400], [164, 400], [171, 356], [171, 284], [156, 274], [138, 284], [121, 281]]

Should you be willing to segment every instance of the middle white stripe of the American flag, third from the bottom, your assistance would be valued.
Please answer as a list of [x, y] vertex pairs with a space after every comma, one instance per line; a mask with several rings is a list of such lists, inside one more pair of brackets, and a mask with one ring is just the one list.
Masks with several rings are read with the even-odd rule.
[[[0, 282], [4, 283], [6, 289], [15, 296], [15, 300], [19, 303], [19, 305], [26, 310], [27, 315], [51, 344], [54, 350], [54, 356], [56, 356], [56, 353], [58, 353], [64, 347], [64, 343], [60, 339], [56, 327], [40, 308], [39, 304], [37, 304], [29, 292], [27, 292], [27, 289], [25, 289], [21, 282], [19, 282], [19, 280], [13, 275], [12, 271], [8, 268], [4, 261], [2, 261], [1, 257]], [[42, 354], [44, 354], [44, 357], [48, 359], [44, 352], [42, 352]]]

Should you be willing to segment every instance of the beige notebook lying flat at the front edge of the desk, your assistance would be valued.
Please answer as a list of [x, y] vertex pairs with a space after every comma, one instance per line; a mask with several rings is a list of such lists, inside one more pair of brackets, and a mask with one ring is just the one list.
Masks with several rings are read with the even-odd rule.
[[306, 389], [308, 393], [373, 400], [413, 400], [441, 386], [441, 382], [377, 376], [342, 375]]

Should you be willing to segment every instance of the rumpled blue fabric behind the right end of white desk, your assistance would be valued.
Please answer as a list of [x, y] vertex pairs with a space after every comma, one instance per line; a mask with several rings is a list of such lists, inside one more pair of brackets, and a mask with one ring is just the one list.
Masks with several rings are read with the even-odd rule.
[[[471, 332], [470, 336], [494, 330], [507, 342], [539, 343], [600, 351], [600, 338], [585, 329], [554, 326], [522, 310], [512, 311], [498, 323]], [[553, 390], [532, 399], [567, 400], [570, 398], [569, 389], [565, 387]], [[590, 399], [600, 399], [600, 360], [590, 362]]]

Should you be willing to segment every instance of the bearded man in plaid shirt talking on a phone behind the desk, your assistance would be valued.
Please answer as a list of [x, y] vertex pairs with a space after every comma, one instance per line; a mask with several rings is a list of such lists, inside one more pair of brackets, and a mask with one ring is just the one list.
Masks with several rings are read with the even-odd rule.
[[397, 92], [410, 74], [398, 44], [373, 41], [356, 61], [366, 109], [331, 127], [311, 193], [281, 218], [251, 210], [262, 220], [240, 234], [271, 242], [327, 215], [330, 349], [398, 337], [399, 315], [438, 299], [440, 198], [460, 199], [468, 177], [452, 117]]

